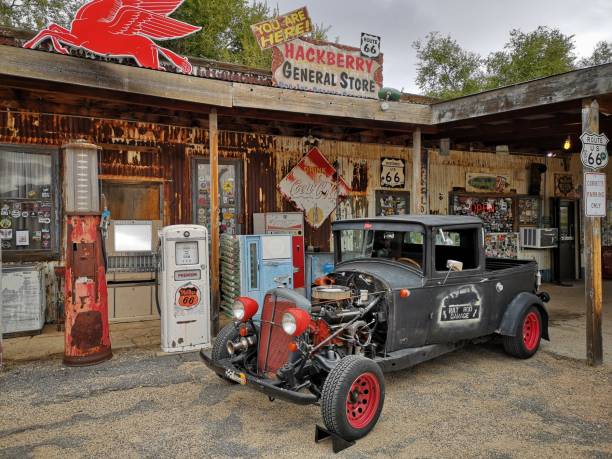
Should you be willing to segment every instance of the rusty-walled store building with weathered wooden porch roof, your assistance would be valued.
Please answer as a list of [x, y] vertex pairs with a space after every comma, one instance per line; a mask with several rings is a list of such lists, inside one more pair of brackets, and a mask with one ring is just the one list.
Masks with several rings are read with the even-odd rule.
[[[210, 193], [200, 183], [210, 180], [212, 148], [233, 182], [219, 184], [223, 230], [248, 234], [253, 213], [294, 210], [277, 186], [316, 145], [351, 192], [320, 228], [307, 225], [308, 246], [332, 249], [333, 219], [373, 216], [385, 206], [475, 213], [490, 223], [493, 253], [536, 258], [549, 279], [555, 256], [569, 257], [564, 276], [581, 275], [581, 101], [597, 98], [601, 130], [612, 132], [612, 64], [446, 102], [405, 95], [383, 110], [376, 100], [272, 87], [261, 70], [193, 59], [198, 76], [186, 76], [26, 50], [19, 45], [27, 36], [0, 36], [0, 169], [8, 157], [23, 165], [0, 170], [0, 181], [34, 174], [24, 179], [30, 188], [0, 186], [0, 208], [8, 206], [9, 219], [14, 202], [36, 213], [31, 224], [15, 217], [5, 228], [16, 233], [21, 225], [29, 239], [3, 239], [3, 259], [45, 267], [49, 320], [58, 301], [53, 272], [63, 261], [60, 147], [75, 139], [100, 148], [101, 189], [114, 219], [207, 223]], [[384, 158], [405, 162], [403, 186], [381, 186]], [[225, 202], [224, 190], [231, 191]], [[503, 205], [491, 212], [490, 200]], [[550, 227], [559, 218], [572, 226], [567, 253], [518, 248], [520, 226]], [[116, 306], [116, 320], [156, 315], [153, 307]]]

